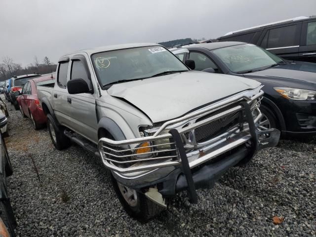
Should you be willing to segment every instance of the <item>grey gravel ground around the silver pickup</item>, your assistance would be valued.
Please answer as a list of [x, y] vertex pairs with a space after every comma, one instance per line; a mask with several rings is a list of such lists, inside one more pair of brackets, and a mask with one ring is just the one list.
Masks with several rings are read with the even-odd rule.
[[[230, 169], [212, 190], [197, 191], [198, 204], [179, 194], [141, 224], [122, 209], [90, 154], [78, 146], [57, 151], [46, 129], [35, 131], [13, 107], [9, 113], [17, 236], [316, 236], [316, 137], [282, 140]], [[275, 225], [274, 216], [284, 221]]]

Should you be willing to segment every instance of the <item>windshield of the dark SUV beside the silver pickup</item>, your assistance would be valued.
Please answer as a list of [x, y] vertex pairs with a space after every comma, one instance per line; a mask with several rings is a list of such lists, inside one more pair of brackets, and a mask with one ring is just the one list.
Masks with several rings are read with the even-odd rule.
[[283, 60], [253, 44], [239, 44], [213, 50], [213, 53], [234, 73], [264, 70]]

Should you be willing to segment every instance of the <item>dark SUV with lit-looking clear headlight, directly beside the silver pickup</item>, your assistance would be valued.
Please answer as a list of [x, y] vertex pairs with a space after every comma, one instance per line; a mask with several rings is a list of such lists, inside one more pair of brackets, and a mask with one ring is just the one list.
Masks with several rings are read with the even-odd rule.
[[170, 51], [191, 69], [260, 81], [265, 92], [261, 130], [273, 127], [283, 136], [316, 135], [315, 63], [287, 61], [243, 42], [200, 43]]

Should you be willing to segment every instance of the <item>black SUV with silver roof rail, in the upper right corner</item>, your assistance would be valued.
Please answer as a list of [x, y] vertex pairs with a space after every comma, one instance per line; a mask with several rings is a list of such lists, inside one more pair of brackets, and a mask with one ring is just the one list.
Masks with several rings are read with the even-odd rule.
[[217, 40], [253, 43], [287, 60], [316, 63], [316, 17], [300, 16], [229, 32]]

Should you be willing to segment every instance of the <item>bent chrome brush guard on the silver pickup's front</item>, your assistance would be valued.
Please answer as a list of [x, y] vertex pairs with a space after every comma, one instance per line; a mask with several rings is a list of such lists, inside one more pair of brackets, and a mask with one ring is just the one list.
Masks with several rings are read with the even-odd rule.
[[[238, 93], [181, 118], [166, 121], [149, 136], [122, 141], [101, 138], [98, 150], [102, 161], [117, 174], [134, 173], [136, 176], [139, 175], [138, 171], [150, 172], [162, 167], [183, 166], [184, 160], [188, 162], [187, 168], [190, 169], [245, 143], [251, 143], [254, 152], [267, 146], [275, 146], [279, 138], [278, 130], [257, 129], [257, 122], [262, 117], [258, 107], [263, 93], [262, 90], [258, 92], [258, 89]], [[216, 111], [221, 112], [214, 113]], [[202, 144], [188, 146], [188, 132], [235, 113], [240, 115], [238, 124]], [[265, 138], [260, 140], [259, 137], [262, 138], [263, 135]], [[185, 151], [185, 154], [181, 154], [180, 150]]]

